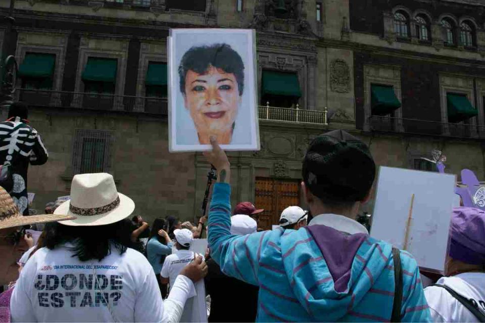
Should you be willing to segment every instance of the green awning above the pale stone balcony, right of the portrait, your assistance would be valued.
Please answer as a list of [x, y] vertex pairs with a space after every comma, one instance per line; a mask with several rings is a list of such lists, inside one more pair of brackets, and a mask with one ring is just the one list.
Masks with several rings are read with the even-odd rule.
[[263, 71], [262, 94], [284, 95], [301, 97], [298, 75], [295, 73], [282, 73]]

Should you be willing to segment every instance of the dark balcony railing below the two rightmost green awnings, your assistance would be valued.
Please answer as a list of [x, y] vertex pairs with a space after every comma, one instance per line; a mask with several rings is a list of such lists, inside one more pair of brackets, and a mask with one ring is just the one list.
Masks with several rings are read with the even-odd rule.
[[481, 125], [381, 116], [370, 117], [370, 129], [373, 131], [405, 132], [418, 135], [485, 138], [485, 126]]

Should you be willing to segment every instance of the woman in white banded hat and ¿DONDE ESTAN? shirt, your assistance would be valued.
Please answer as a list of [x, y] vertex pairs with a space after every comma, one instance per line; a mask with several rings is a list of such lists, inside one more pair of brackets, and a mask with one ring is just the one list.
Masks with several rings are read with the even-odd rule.
[[207, 265], [192, 261], [163, 303], [152, 266], [129, 248], [124, 219], [134, 207], [111, 175], [74, 176], [71, 199], [55, 213], [76, 219], [60, 222], [26, 263], [11, 298], [12, 321], [178, 321]]

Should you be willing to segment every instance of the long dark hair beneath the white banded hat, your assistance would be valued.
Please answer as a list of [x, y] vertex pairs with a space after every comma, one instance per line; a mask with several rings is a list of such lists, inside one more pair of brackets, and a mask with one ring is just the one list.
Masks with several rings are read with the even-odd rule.
[[73, 227], [56, 223], [45, 236], [44, 245], [49, 249], [70, 242], [72, 256], [81, 261], [97, 259], [101, 261], [111, 254], [111, 245], [123, 254], [133, 247], [130, 221], [122, 220], [104, 226]]

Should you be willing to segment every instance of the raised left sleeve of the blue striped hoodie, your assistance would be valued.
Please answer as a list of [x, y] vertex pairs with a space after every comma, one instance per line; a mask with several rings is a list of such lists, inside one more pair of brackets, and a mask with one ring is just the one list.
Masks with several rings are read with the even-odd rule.
[[221, 271], [252, 285], [258, 285], [259, 259], [267, 243], [267, 232], [234, 236], [231, 227], [231, 187], [214, 184], [209, 209], [209, 247]]

